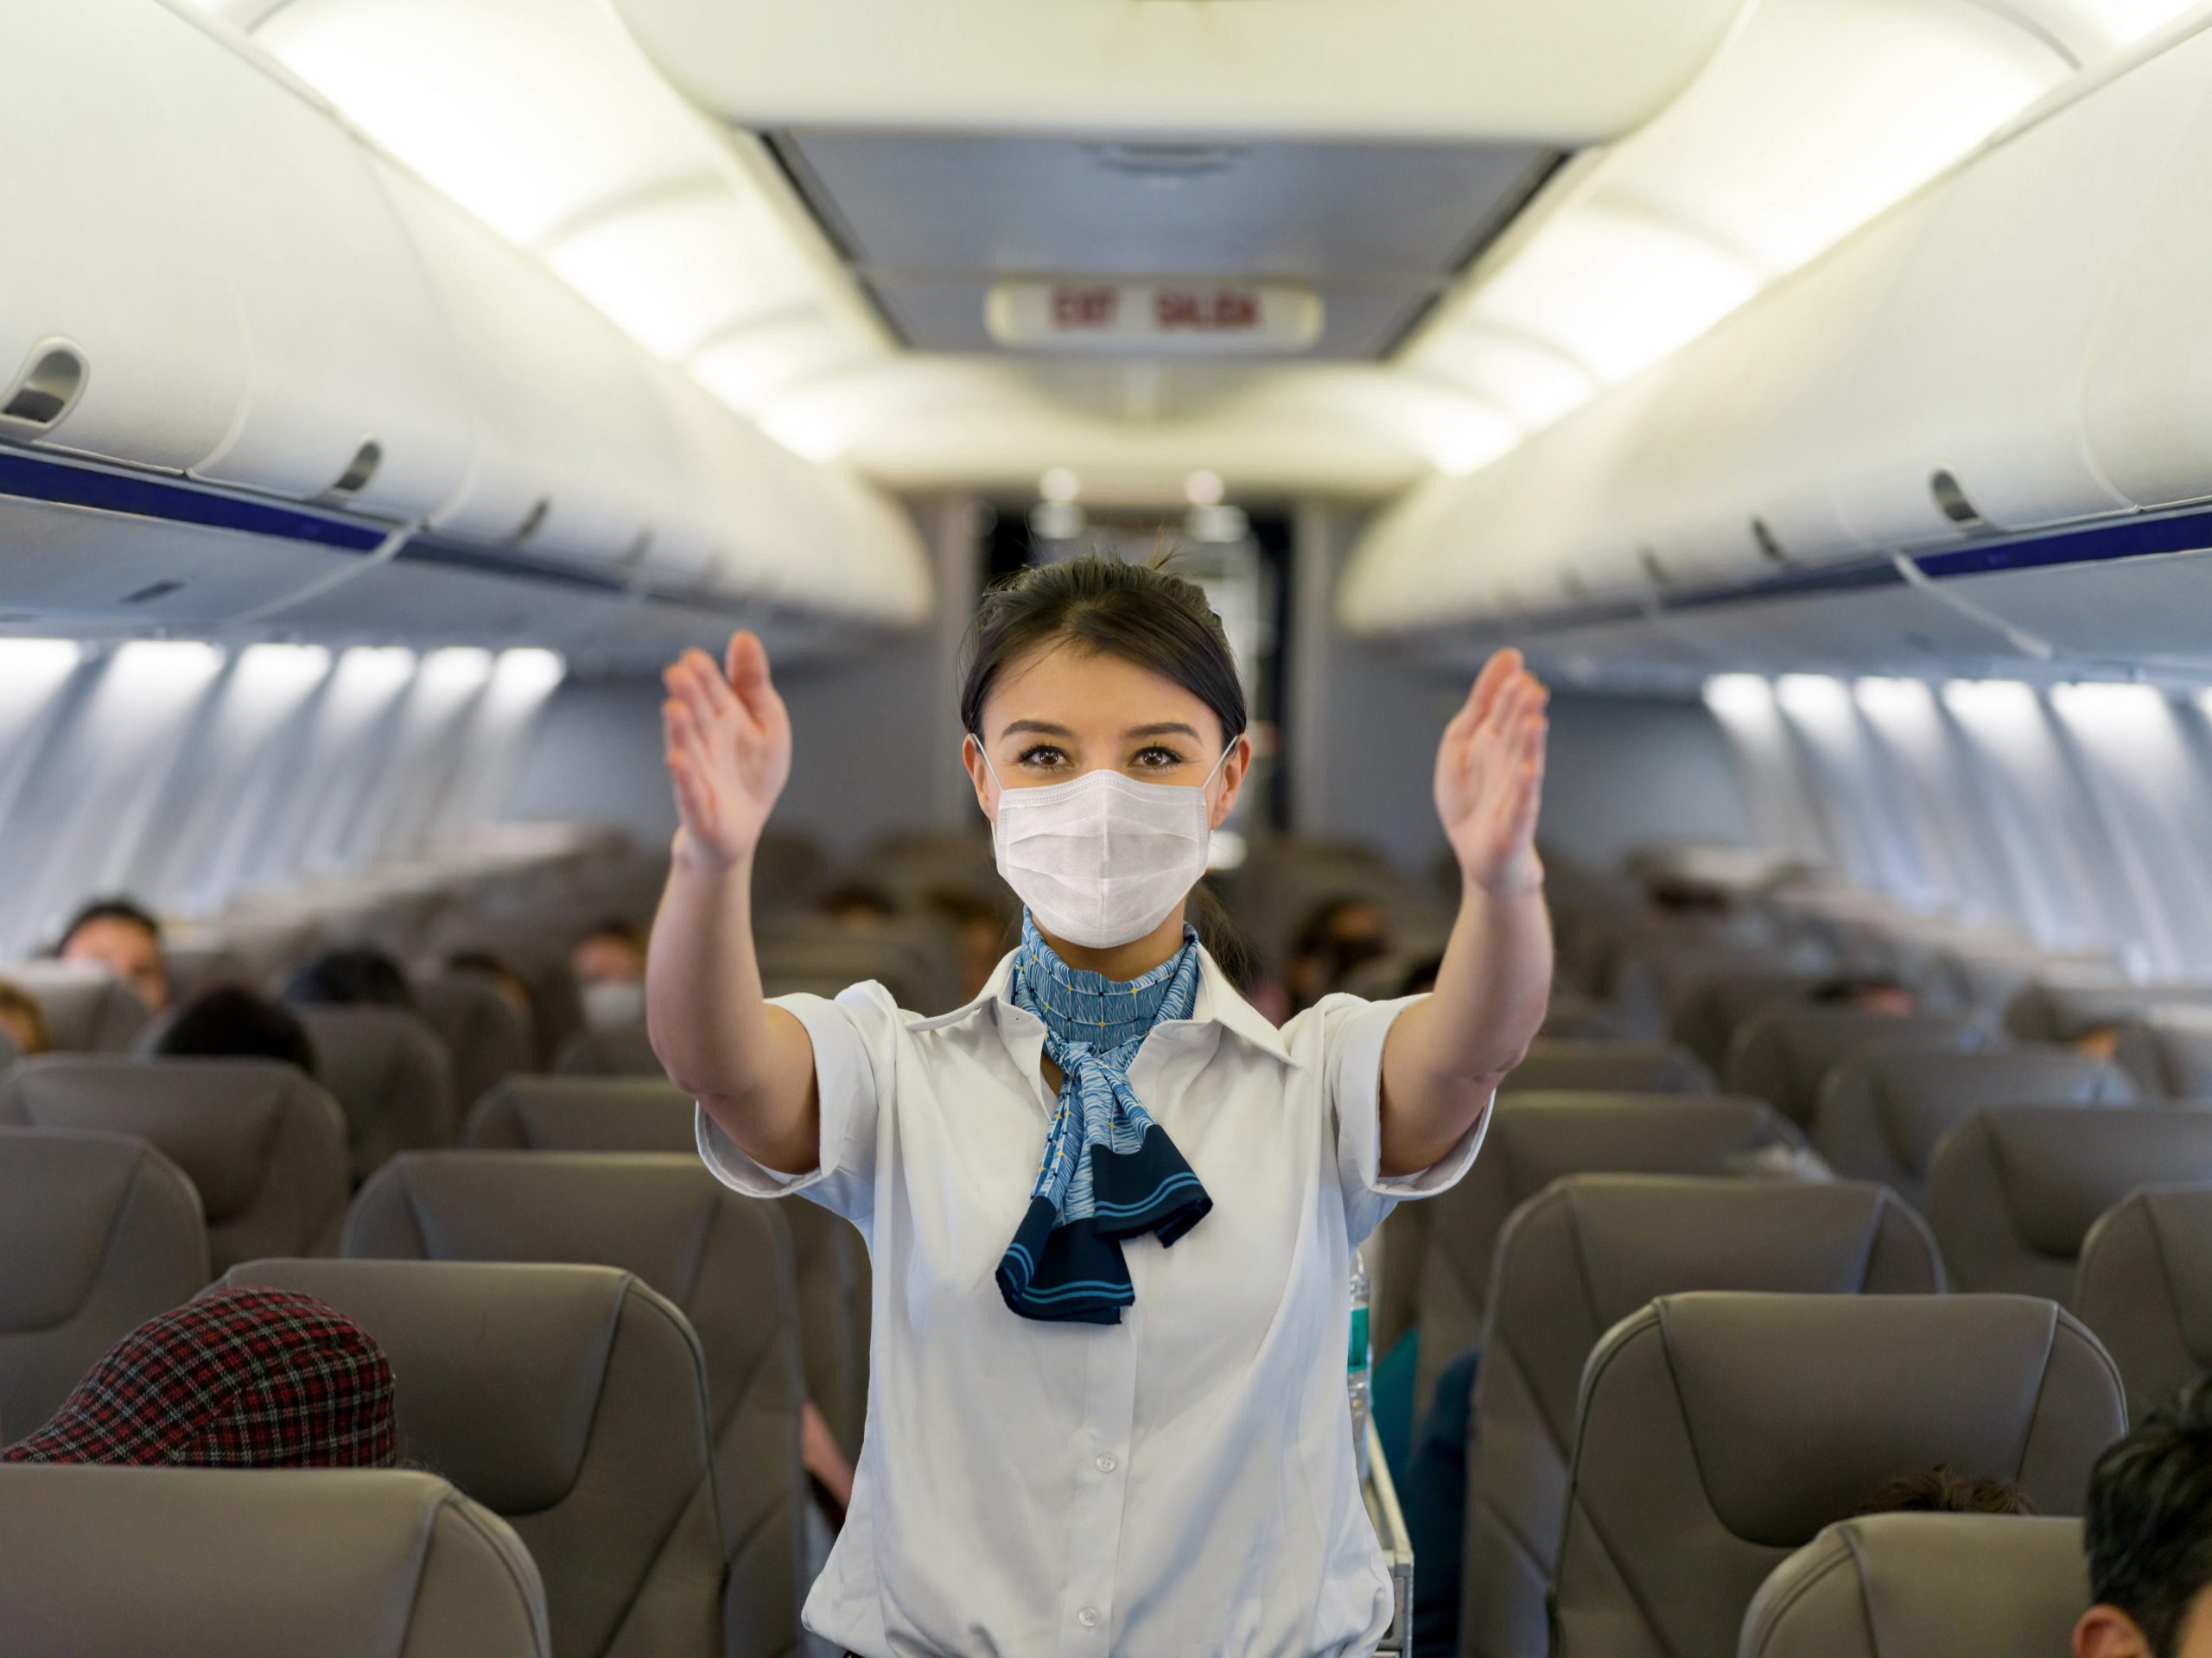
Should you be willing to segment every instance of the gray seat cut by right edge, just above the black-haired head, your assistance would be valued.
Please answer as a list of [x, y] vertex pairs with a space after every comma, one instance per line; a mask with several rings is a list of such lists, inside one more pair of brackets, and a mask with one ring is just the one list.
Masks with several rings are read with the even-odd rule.
[[2141, 1421], [2212, 1371], [2212, 1187], [2154, 1185], [2081, 1240], [2075, 1315], [2112, 1353]]

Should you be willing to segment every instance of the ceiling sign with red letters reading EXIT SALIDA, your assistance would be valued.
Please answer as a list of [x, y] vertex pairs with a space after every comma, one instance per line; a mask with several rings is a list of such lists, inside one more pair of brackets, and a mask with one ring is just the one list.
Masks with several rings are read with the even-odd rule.
[[1296, 283], [1024, 279], [991, 290], [984, 325], [1024, 351], [1305, 351], [1321, 296]]

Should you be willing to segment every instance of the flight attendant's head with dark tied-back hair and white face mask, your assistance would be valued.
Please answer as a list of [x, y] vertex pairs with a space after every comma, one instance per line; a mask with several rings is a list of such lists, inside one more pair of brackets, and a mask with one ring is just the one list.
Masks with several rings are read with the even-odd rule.
[[[1194, 829], [1203, 836], [1234, 807], [1252, 752], [1237, 657], [1206, 592], [1159, 564], [1099, 557], [1035, 566], [984, 595], [960, 688], [960, 723], [969, 734], [962, 754], [975, 800], [993, 825], [1009, 794], [1110, 774], [1139, 785], [1201, 789]], [[1181, 900], [1203, 873], [1203, 856], [1186, 867], [1175, 844], [1192, 831], [1175, 800], [1117, 789], [1091, 802], [1124, 827], [1137, 825], [1146, 851], [1161, 853], [1159, 869], [1181, 886], [1155, 928], [1179, 917]], [[1048, 838], [1060, 840], [1057, 827]], [[1026, 840], [1024, 847], [1055, 860], [1051, 847]], [[1053, 878], [1071, 893], [1064, 902], [1082, 906], [1095, 898], [1091, 889], [1104, 875], [1088, 862], [1102, 851], [1110, 856], [1104, 836], [1073, 847], [1079, 867], [1060, 871], [1064, 880]], [[1006, 869], [1004, 856], [1000, 867]], [[1155, 909], [1157, 871], [1108, 873], [1119, 880], [1155, 873], [1152, 882], [1119, 889], [1124, 900], [1144, 895], [1137, 909]], [[1018, 884], [1031, 911], [1035, 893], [1053, 880]], [[1040, 917], [1040, 926], [1048, 920]], [[1117, 913], [1102, 926], [1119, 931], [1126, 922], [1128, 915]]]

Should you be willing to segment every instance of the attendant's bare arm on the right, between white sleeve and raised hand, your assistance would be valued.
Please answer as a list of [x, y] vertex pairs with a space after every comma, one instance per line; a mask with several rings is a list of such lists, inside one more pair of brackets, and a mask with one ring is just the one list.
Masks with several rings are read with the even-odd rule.
[[1398, 1015], [1383, 1046], [1383, 1174], [1429, 1167], [1475, 1125], [1548, 1001], [1542, 886], [1489, 893], [1469, 882], [1436, 990]]

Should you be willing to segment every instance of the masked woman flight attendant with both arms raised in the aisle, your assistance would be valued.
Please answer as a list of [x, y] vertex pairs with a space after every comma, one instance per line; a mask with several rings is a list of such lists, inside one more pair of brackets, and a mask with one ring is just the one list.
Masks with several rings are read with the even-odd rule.
[[827, 1205], [874, 1258], [867, 1430], [807, 1627], [860, 1658], [1374, 1651], [1345, 1284], [1396, 1200], [1467, 1172], [1544, 1017], [1544, 688], [1500, 652], [1444, 730], [1436, 990], [1276, 1030], [1186, 924], [1252, 763], [1194, 584], [1084, 557], [984, 597], [962, 758], [1022, 942], [938, 1019], [878, 984], [761, 993], [790, 718], [752, 634], [666, 681], [653, 1043], [717, 1176]]

